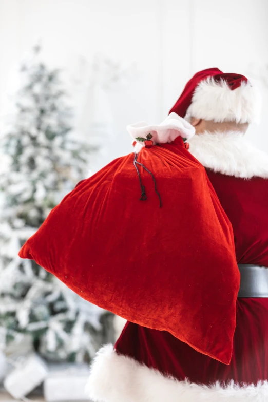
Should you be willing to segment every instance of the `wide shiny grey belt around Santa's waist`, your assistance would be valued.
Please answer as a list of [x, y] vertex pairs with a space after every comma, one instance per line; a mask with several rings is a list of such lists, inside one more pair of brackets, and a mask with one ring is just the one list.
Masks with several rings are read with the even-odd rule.
[[238, 297], [268, 297], [268, 268], [251, 264], [238, 264], [240, 289]]

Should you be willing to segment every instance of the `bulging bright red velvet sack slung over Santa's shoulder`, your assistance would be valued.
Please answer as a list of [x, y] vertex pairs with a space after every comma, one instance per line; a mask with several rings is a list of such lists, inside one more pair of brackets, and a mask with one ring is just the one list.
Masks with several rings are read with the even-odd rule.
[[229, 363], [239, 289], [232, 226], [181, 137], [79, 183], [20, 256], [91, 303]]

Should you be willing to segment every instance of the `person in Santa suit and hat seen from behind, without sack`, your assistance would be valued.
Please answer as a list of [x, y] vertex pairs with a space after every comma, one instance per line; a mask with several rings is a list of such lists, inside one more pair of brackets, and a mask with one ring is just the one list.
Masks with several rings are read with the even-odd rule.
[[170, 111], [196, 128], [189, 151], [233, 225], [241, 285], [231, 363], [127, 322], [116, 345], [104, 346], [92, 364], [92, 400], [268, 401], [268, 156], [244, 136], [259, 109], [245, 76], [212, 68], [194, 75]]

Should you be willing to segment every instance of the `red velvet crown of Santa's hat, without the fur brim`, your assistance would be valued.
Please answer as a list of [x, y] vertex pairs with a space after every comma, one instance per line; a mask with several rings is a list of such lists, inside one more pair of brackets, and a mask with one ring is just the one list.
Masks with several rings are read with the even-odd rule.
[[213, 77], [215, 82], [225, 81], [231, 90], [238, 88], [242, 82], [247, 82], [247, 78], [241, 74], [223, 73], [218, 68], [207, 68], [206, 70], [198, 71], [185, 85], [185, 88], [180, 95], [180, 98], [175, 103], [169, 113], [175, 112], [181, 117], [185, 117], [186, 111], [192, 103], [192, 98], [195, 90], [201, 81]]

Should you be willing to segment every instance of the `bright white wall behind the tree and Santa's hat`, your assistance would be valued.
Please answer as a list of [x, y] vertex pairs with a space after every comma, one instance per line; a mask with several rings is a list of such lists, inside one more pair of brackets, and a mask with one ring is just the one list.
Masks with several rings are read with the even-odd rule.
[[[11, 69], [39, 39], [46, 61], [66, 69], [70, 91], [81, 56], [91, 61], [100, 52], [135, 63], [133, 79], [107, 94], [113, 159], [131, 150], [125, 126], [164, 119], [197, 70], [219, 67], [250, 78], [264, 71], [267, 17], [267, 0], [0, 0], [0, 112]], [[259, 83], [266, 117], [268, 88]], [[249, 136], [268, 151], [264, 123]]]

